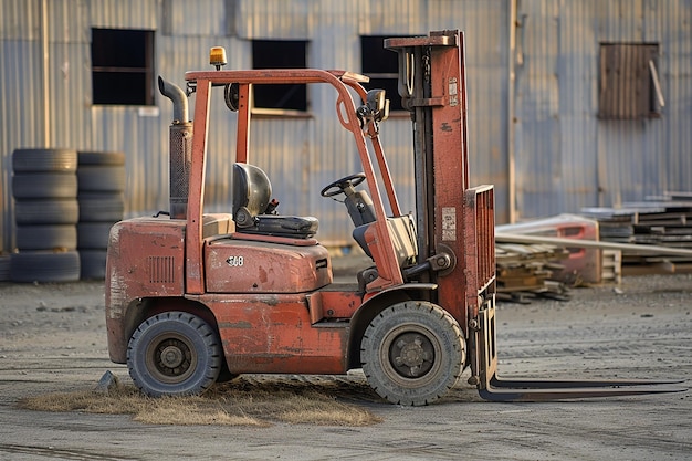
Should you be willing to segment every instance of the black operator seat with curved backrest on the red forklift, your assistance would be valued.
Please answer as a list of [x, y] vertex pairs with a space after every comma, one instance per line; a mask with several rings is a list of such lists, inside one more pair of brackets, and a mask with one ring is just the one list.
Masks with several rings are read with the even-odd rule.
[[313, 217], [277, 216], [266, 174], [249, 164], [233, 164], [233, 220], [238, 232], [308, 239], [319, 222]]

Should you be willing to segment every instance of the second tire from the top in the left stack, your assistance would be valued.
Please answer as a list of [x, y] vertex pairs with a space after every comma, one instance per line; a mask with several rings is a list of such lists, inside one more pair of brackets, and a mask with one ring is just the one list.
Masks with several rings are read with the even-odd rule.
[[74, 199], [77, 176], [71, 174], [25, 172], [12, 177], [15, 199]]

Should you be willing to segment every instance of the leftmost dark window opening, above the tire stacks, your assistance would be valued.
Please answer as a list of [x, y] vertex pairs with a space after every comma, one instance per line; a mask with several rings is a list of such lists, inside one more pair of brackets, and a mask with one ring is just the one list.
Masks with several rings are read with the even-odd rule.
[[154, 105], [154, 31], [92, 29], [94, 104]]

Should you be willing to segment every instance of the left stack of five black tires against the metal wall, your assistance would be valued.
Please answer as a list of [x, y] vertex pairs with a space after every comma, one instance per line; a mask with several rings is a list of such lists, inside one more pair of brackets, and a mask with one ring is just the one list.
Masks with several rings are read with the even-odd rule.
[[10, 259], [12, 282], [80, 280], [76, 169], [76, 150], [12, 153], [18, 250]]

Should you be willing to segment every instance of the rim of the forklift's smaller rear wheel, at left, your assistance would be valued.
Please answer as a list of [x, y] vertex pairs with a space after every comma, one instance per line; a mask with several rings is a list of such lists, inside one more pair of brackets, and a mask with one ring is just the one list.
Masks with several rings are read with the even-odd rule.
[[166, 384], [182, 383], [197, 367], [197, 353], [182, 335], [167, 333], [155, 337], [147, 347], [146, 366], [151, 376]]

